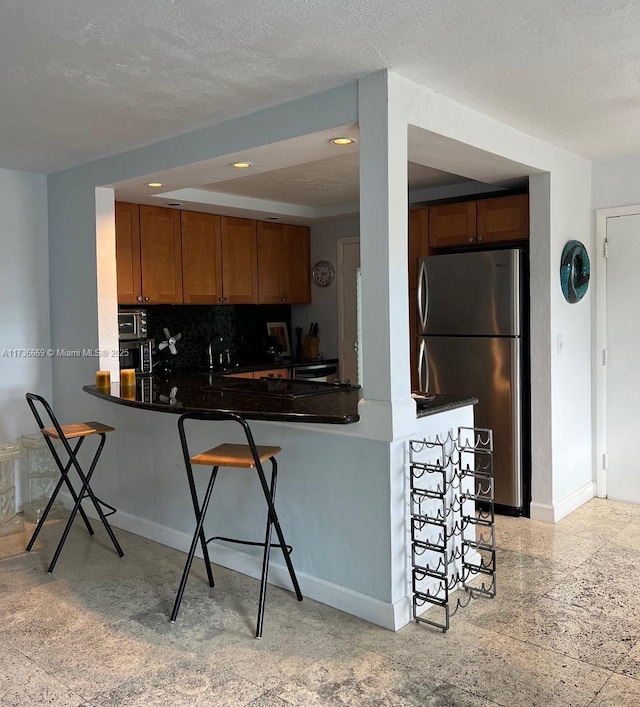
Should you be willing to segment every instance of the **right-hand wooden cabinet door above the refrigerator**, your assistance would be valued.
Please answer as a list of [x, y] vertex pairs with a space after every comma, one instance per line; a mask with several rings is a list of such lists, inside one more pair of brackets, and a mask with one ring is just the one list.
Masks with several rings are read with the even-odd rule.
[[478, 243], [529, 238], [529, 196], [518, 194], [476, 202]]

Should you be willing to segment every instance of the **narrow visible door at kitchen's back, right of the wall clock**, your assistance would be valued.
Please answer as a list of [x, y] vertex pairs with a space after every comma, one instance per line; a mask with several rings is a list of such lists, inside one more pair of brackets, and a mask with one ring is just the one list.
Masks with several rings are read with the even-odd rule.
[[358, 384], [358, 297], [360, 239], [338, 239], [338, 350], [340, 380]]

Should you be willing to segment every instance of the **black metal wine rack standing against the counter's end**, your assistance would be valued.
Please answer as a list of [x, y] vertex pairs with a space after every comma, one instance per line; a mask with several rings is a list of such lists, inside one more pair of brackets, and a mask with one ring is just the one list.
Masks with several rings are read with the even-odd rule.
[[496, 594], [493, 435], [459, 427], [409, 445], [413, 618], [445, 632], [471, 599]]

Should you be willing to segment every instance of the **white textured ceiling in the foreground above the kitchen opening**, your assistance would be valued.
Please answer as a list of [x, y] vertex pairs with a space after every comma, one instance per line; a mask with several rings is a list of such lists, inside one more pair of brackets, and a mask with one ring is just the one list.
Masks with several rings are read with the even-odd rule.
[[49, 172], [390, 68], [597, 158], [640, 150], [637, 0], [0, 0], [0, 167]]

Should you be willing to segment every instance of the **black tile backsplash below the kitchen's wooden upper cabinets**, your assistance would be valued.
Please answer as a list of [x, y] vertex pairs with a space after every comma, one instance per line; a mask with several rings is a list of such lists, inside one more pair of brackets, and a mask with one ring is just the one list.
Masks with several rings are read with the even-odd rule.
[[172, 361], [176, 368], [204, 365], [205, 347], [212, 337], [216, 351], [229, 349], [233, 362], [263, 363], [267, 322], [286, 322], [291, 340], [290, 305], [156, 304], [146, 310], [149, 338], [155, 339], [156, 346], [166, 339], [165, 327], [172, 336], [182, 334]]

